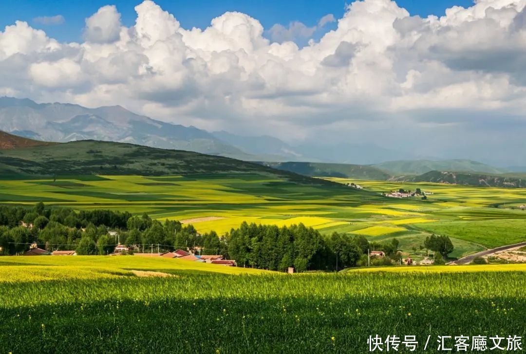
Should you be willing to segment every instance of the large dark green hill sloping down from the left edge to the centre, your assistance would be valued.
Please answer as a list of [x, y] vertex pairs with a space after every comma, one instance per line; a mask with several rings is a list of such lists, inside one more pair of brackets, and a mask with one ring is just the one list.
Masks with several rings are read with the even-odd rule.
[[0, 150], [0, 174], [12, 176], [189, 175], [256, 173], [294, 182], [332, 184], [257, 163], [181, 150], [83, 140], [24, 149]]

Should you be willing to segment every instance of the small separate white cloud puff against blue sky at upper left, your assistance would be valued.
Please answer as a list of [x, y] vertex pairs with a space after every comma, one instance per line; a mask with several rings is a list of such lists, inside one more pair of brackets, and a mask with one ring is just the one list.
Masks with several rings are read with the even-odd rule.
[[115, 5], [106, 5], [86, 18], [84, 38], [92, 43], [111, 43], [119, 39], [120, 14]]

